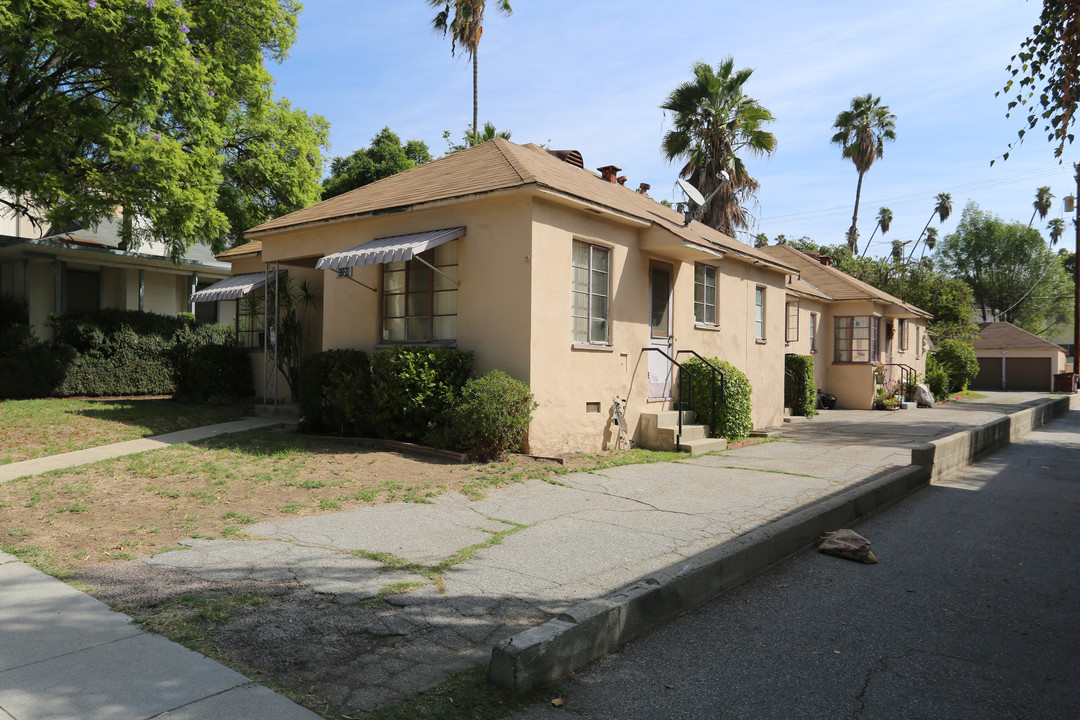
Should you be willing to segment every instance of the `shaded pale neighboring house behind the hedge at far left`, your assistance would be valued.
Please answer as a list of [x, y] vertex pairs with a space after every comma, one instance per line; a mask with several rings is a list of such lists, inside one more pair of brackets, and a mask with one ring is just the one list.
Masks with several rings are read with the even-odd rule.
[[158, 243], [126, 250], [120, 221], [96, 228], [71, 227], [38, 236], [21, 217], [0, 217], [0, 294], [26, 303], [39, 338], [51, 334], [46, 321], [66, 310], [146, 310], [165, 315], [195, 312], [203, 322], [232, 322], [232, 305], [193, 305], [200, 287], [228, 277], [228, 262], [195, 245], [180, 264]]

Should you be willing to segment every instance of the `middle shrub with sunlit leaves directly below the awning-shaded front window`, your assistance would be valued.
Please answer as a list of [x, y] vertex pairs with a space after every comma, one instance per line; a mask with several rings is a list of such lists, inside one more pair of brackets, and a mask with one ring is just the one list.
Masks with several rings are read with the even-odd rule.
[[403, 440], [428, 436], [469, 380], [472, 353], [450, 348], [399, 345], [372, 353], [372, 419], [380, 435]]

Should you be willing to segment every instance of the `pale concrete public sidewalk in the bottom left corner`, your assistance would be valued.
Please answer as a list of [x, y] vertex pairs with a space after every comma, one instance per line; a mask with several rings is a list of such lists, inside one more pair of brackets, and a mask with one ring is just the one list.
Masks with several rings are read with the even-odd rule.
[[0, 553], [0, 720], [315, 720]]

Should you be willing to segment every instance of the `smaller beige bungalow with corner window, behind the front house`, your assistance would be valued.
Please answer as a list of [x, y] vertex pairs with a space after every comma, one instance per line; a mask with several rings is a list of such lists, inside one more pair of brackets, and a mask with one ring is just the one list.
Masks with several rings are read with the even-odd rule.
[[878, 364], [886, 379], [921, 377], [927, 370], [930, 313], [788, 245], [760, 248], [798, 269], [787, 286], [788, 352], [814, 356], [818, 388], [836, 395], [837, 407], [874, 405]]

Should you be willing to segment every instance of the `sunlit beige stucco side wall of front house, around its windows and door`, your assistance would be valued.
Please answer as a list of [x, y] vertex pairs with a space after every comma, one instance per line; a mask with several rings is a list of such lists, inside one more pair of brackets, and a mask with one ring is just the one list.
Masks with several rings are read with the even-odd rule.
[[[625, 419], [635, 438], [642, 412], [670, 409], [648, 399], [649, 267], [673, 271], [674, 349], [694, 350], [743, 370], [754, 389], [755, 427], [772, 426], [783, 413], [784, 276], [732, 258], [701, 254], [718, 269], [718, 325], [698, 327], [693, 316], [694, 260], [639, 249], [643, 229], [538, 201], [532, 210], [532, 388], [540, 407], [530, 432], [534, 452], [607, 447], [610, 407], [626, 399]], [[571, 341], [571, 260], [575, 240], [608, 247], [610, 255], [609, 348], [575, 347]], [[766, 287], [766, 341], [754, 340], [754, 291]], [[686, 359], [683, 355], [679, 359]], [[599, 412], [595, 412], [596, 407]]]

